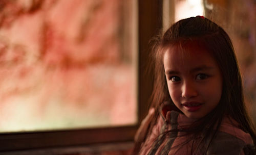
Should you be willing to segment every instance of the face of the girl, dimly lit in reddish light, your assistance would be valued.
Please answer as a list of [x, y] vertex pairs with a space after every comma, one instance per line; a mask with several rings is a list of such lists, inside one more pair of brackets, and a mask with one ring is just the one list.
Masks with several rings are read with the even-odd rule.
[[203, 48], [172, 46], [163, 64], [170, 97], [188, 118], [199, 119], [219, 104], [222, 75], [214, 58]]

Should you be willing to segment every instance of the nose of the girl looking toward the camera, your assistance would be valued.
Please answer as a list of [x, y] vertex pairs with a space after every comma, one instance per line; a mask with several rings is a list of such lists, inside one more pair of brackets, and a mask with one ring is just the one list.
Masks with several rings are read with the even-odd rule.
[[192, 83], [184, 83], [182, 85], [182, 94], [181, 96], [184, 98], [191, 98], [198, 95], [197, 88]]

